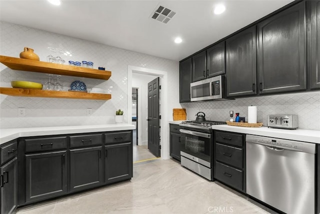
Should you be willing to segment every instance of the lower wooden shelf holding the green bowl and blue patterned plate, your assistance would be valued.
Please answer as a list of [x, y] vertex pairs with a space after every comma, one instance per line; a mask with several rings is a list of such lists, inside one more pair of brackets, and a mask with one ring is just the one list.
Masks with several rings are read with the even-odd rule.
[[46, 91], [39, 89], [23, 88], [1, 88], [0, 94], [19, 97], [49, 97], [49, 98], [69, 98], [69, 99], [87, 99], [87, 100], [109, 100], [111, 94], [96, 94], [71, 91]]

